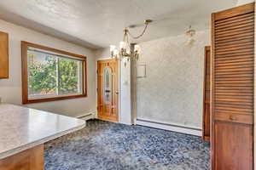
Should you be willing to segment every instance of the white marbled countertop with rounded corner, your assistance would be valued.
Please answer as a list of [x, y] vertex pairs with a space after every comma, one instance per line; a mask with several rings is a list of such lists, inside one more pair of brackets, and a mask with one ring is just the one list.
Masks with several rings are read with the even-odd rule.
[[85, 122], [77, 118], [18, 105], [0, 104], [0, 159], [84, 126]]

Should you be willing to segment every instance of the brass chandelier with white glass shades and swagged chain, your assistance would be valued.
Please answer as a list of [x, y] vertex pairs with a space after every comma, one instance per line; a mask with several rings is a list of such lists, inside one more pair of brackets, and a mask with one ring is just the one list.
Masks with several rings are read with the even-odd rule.
[[[111, 57], [114, 59], [119, 59], [119, 58], [125, 59], [125, 61], [126, 60], [129, 61], [130, 59], [138, 59], [141, 48], [139, 45], [134, 45], [134, 47], [131, 48], [131, 43], [129, 42], [129, 36], [132, 39], [138, 39], [140, 37], [143, 37], [144, 33], [146, 32], [146, 30], [148, 28], [148, 24], [151, 22], [152, 22], [152, 20], [144, 21], [143, 32], [140, 35], [138, 35], [137, 37], [132, 36], [131, 32], [128, 30], [128, 28], [125, 27], [123, 41], [119, 42], [119, 49], [114, 45], [110, 45]], [[136, 26], [130, 26], [130, 28], [133, 28], [133, 27], [136, 27]]]

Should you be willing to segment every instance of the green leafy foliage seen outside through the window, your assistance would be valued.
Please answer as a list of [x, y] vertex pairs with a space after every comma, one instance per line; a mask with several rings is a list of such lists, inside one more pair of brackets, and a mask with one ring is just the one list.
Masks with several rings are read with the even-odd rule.
[[46, 56], [44, 62], [28, 54], [29, 94], [79, 93], [79, 61]]

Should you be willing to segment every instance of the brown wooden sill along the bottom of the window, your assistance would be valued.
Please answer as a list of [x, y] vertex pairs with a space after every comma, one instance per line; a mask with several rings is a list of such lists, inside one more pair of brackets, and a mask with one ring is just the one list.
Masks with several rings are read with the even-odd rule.
[[48, 102], [48, 101], [56, 101], [56, 100], [63, 100], [63, 99], [77, 99], [77, 98], [86, 98], [87, 94], [79, 94], [73, 96], [60, 96], [55, 98], [45, 98], [45, 99], [23, 99], [22, 104], [33, 104], [33, 103], [41, 103], [41, 102]]

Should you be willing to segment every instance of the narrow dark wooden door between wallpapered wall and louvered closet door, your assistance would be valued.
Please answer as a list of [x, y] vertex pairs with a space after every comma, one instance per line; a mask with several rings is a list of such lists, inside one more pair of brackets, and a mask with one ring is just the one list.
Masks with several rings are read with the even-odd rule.
[[205, 47], [205, 77], [204, 77], [204, 101], [203, 101], [203, 130], [202, 138], [210, 140], [210, 71], [211, 71], [211, 47]]

